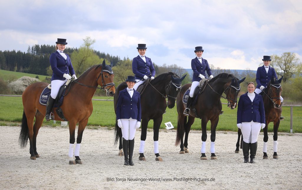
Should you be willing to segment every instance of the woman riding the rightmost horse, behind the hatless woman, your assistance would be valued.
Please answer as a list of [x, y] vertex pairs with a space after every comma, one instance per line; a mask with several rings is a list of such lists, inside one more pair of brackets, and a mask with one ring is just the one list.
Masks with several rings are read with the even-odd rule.
[[[271, 56], [263, 55], [263, 65], [261, 67], [258, 67], [257, 73], [256, 73], [256, 82], [257, 87], [255, 89], [255, 93], [259, 94], [267, 87], [268, 81], [271, 80], [271, 76], [274, 76], [276, 79], [277, 74], [274, 68], [270, 67], [269, 64], [271, 63]], [[283, 98], [280, 96], [281, 105], [283, 102]], [[283, 120], [284, 118], [281, 117], [280, 120]]]

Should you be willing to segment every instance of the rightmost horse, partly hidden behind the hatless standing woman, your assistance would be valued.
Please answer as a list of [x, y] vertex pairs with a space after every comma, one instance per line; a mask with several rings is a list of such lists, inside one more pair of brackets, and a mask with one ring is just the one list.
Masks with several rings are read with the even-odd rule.
[[[263, 129], [263, 159], [268, 159], [267, 155], [267, 141], [268, 141], [268, 124], [270, 122], [274, 122], [274, 144], [273, 144], [273, 158], [278, 159], [277, 154], [277, 139], [278, 139], [278, 128], [280, 125], [280, 116], [282, 112], [282, 103], [280, 100], [281, 96], [281, 81], [283, 79], [283, 76], [280, 79], [276, 79], [272, 76], [271, 81], [268, 82], [267, 87], [263, 91], [262, 98], [264, 103], [264, 111], [265, 111], [265, 128]], [[239, 153], [239, 141], [240, 136], [242, 139], [242, 132], [240, 129], [238, 129], [238, 139], [236, 143], [236, 150], [235, 153]], [[242, 141], [240, 142], [240, 148]]]

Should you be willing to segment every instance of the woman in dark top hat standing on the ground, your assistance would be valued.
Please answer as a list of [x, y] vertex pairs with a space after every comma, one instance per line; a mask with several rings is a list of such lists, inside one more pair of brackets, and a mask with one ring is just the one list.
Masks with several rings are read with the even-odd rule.
[[134, 166], [132, 160], [134, 135], [136, 129], [140, 128], [140, 119], [142, 115], [140, 93], [133, 89], [133, 86], [136, 83], [135, 79], [136, 78], [133, 76], [127, 77], [126, 83], [128, 87], [120, 91], [116, 106], [117, 125], [122, 129], [124, 165], [126, 166]]

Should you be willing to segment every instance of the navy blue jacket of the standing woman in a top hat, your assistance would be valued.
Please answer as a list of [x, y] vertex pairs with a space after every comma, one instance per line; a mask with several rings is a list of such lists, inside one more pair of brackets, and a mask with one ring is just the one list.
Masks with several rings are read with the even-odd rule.
[[132, 98], [127, 88], [120, 91], [116, 106], [116, 119], [137, 119], [141, 120], [140, 93], [133, 89]]

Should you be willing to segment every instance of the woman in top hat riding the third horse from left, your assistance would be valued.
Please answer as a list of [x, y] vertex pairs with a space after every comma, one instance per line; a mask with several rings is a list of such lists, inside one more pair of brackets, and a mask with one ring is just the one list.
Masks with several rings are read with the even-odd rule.
[[207, 60], [201, 57], [202, 53], [204, 52], [202, 47], [201, 46], [195, 47], [194, 52], [196, 54], [196, 57], [191, 61], [191, 68], [193, 70], [193, 79], [192, 79], [192, 85], [190, 90], [190, 96], [188, 97], [187, 100], [187, 108], [184, 111], [185, 116], [190, 115], [189, 107], [194, 96], [195, 88], [198, 86], [199, 81], [201, 79], [207, 78], [205, 71], [207, 71], [207, 74], [210, 76], [209, 80], [213, 78], [212, 71], [210, 69]]

